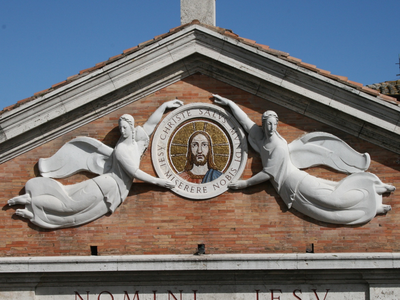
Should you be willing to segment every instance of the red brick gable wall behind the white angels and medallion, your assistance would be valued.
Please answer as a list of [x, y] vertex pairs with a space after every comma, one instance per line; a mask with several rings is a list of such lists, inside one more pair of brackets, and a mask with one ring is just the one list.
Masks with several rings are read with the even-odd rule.
[[[38, 176], [38, 158], [51, 156], [68, 140], [91, 136], [114, 146], [119, 138], [120, 115], [132, 114], [136, 124], [141, 125], [166, 100], [178, 97], [185, 104], [212, 103], [213, 93], [235, 100], [258, 124], [265, 110], [275, 110], [280, 121], [278, 131], [288, 142], [316, 130], [342, 138], [357, 151], [370, 154], [369, 172], [399, 188], [398, 154], [218, 80], [194, 75], [1, 164], [0, 255], [90, 255], [89, 246], [96, 245], [99, 255], [192, 254], [201, 242], [206, 244], [206, 253], [211, 254], [304, 253], [310, 243], [316, 253], [400, 251], [400, 192], [384, 194], [384, 204], [390, 204], [393, 210], [364, 225], [326, 224], [288, 209], [269, 182], [238, 192], [227, 191], [204, 201], [188, 200], [165, 188], [134, 182], [128, 198], [113, 214], [83, 226], [58, 230], [42, 229], [16, 216], [15, 210], [22, 205], [7, 205], [9, 198], [24, 193], [28, 179]], [[150, 151], [149, 146], [140, 168], [154, 176]], [[261, 169], [258, 154], [249, 146], [243, 178]], [[311, 168], [307, 172], [332, 180], [345, 177], [328, 168]], [[94, 176], [82, 172], [60, 182], [72, 184]]]

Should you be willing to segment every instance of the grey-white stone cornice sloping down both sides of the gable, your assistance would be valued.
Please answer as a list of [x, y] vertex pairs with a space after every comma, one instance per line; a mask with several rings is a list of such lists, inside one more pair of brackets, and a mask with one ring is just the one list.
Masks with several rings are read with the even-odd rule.
[[400, 107], [192, 25], [0, 115], [0, 163], [201, 72], [400, 153]]

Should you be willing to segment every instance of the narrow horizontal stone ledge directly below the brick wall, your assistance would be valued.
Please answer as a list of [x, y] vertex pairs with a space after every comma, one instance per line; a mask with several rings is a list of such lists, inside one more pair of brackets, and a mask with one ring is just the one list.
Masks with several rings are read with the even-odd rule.
[[0, 273], [395, 269], [400, 253], [206, 254], [0, 258]]

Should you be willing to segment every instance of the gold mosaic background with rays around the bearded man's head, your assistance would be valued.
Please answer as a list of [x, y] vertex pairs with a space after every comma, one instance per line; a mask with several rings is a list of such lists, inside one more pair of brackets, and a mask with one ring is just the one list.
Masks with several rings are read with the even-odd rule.
[[224, 172], [232, 158], [231, 142], [228, 135], [216, 124], [203, 119], [194, 119], [175, 129], [168, 143], [169, 160], [177, 172], [182, 172], [186, 165], [188, 140], [193, 132], [202, 130], [211, 137], [214, 163], [217, 169]]

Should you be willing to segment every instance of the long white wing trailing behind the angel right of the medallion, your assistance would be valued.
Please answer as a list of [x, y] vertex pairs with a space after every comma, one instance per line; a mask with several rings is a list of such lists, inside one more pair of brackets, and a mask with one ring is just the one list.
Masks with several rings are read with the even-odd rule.
[[311, 132], [289, 145], [290, 160], [297, 168], [326, 165], [344, 173], [364, 172], [370, 166], [368, 153], [358, 153], [340, 138], [326, 132]]

